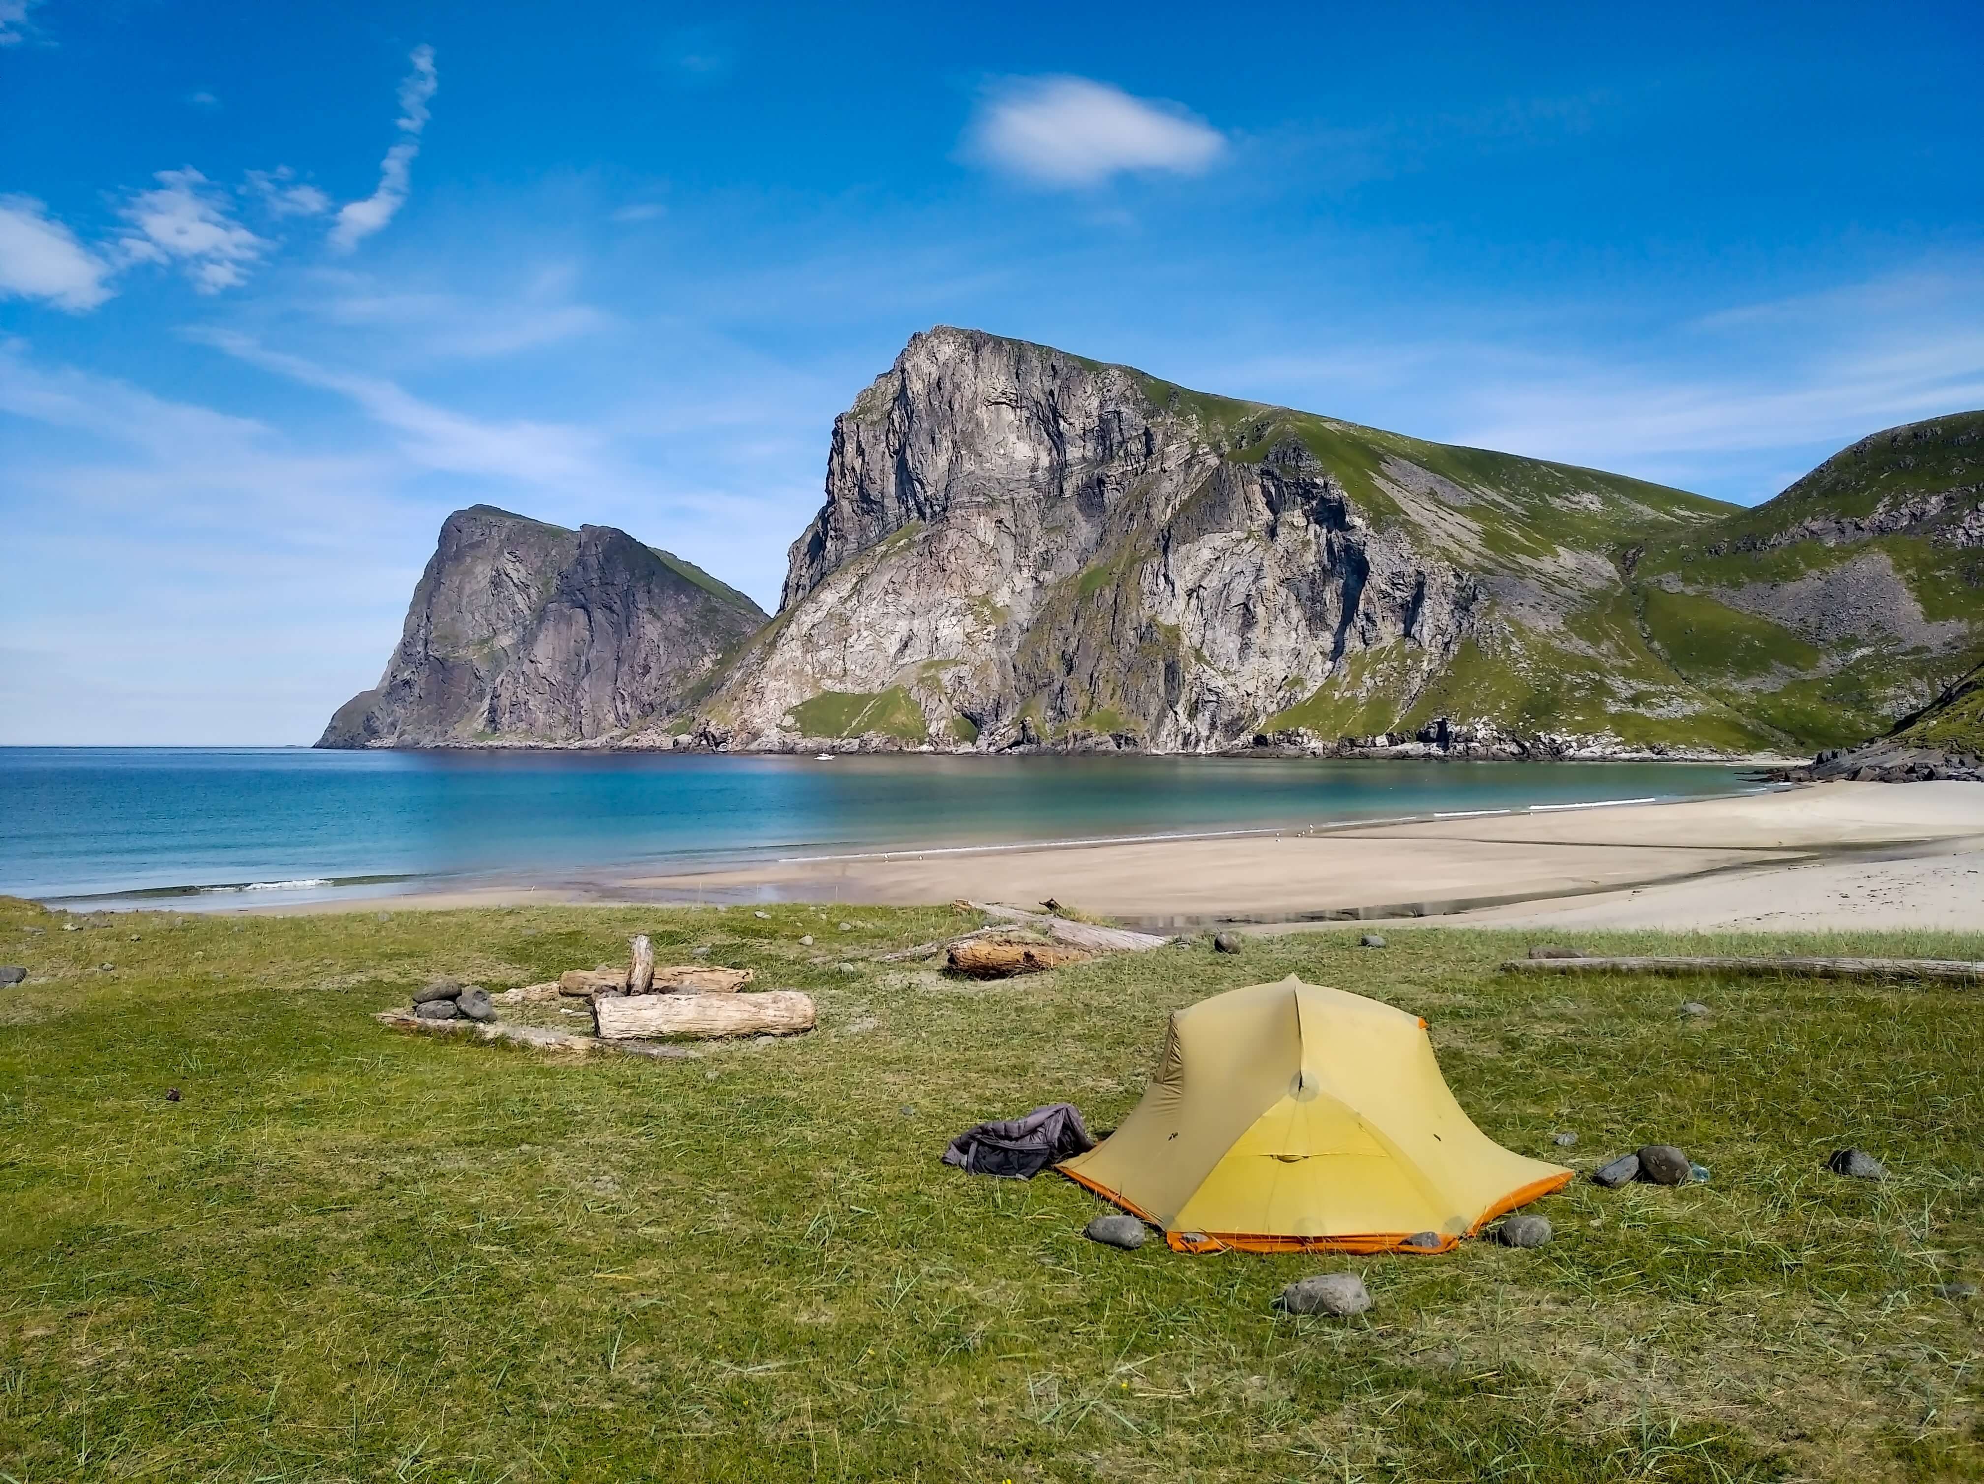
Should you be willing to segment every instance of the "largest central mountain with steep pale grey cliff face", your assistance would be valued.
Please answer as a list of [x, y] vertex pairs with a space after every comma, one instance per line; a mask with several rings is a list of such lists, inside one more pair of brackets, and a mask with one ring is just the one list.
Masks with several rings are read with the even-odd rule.
[[835, 421], [780, 617], [702, 720], [768, 748], [1432, 716], [1754, 746], [1647, 649], [1611, 559], [1726, 510], [934, 329]]

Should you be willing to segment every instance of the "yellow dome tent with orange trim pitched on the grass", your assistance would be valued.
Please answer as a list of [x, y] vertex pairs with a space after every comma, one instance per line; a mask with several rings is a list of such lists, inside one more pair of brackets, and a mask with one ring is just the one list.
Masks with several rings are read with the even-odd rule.
[[1178, 1252], [1448, 1252], [1571, 1178], [1468, 1121], [1425, 1020], [1294, 974], [1178, 1010], [1143, 1101], [1059, 1171]]

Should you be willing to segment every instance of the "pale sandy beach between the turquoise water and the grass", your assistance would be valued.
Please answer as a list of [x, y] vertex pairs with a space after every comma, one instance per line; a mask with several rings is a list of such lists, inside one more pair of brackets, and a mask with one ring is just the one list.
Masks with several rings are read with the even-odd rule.
[[1186, 927], [1339, 919], [1450, 927], [1984, 930], [1984, 788], [1823, 784], [1313, 833], [806, 857], [317, 907], [556, 901], [1038, 903]]

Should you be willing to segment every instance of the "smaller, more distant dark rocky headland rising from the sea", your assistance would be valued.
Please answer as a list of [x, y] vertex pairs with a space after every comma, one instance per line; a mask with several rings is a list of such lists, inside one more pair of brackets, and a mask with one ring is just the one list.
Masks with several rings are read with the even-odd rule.
[[764, 619], [742, 593], [609, 526], [456, 510], [385, 677], [339, 706], [317, 746], [613, 736], [673, 712]]

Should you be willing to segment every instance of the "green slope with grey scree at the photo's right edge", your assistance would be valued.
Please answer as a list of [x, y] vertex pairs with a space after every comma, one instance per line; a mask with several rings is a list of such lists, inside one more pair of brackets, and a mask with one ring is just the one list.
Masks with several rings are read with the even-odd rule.
[[1984, 413], [1875, 433], [1627, 563], [1653, 647], [1760, 736], [1881, 734], [1984, 651]]

